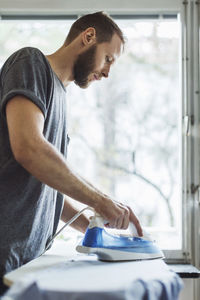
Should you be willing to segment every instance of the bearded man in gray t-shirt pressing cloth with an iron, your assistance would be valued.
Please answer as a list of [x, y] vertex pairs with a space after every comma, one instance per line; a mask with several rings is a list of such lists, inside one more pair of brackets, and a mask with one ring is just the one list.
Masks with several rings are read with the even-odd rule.
[[[0, 277], [39, 256], [59, 219], [77, 212], [63, 195], [89, 205], [108, 222], [142, 229], [133, 211], [101, 193], [66, 162], [66, 90], [108, 77], [124, 38], [102, 12], [78, 19], [55, 53], [36, 48], [11, 55], [0, 84]], [[78, 150], [77, 150], [78, 151]], [[73, 227], [84, 232], [85, 216]]]

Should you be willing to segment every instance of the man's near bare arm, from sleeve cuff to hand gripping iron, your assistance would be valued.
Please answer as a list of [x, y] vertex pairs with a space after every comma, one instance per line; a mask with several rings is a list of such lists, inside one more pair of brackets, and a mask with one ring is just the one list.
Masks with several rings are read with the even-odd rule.
[[[19, 164], [41, 182], [93, 207], [110, 227], [128, 227], [129, 209], [88, 185], [45, 139], [44, 116], [35, 104], [23, 96], [14, 97], [6, 106], [6, 117], [11, 148]], [[142, 229], [136, 217], [133, 222], [141, 235]]]

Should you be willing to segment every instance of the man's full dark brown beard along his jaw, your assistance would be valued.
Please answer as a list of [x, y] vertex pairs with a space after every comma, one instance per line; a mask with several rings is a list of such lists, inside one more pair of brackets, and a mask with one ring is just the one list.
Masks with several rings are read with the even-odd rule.
[[81, 88], [87, 88], [88, 76], [95, 68], [96, 45], [81, 53], [74, 63], [73, 75], [74, 82]]

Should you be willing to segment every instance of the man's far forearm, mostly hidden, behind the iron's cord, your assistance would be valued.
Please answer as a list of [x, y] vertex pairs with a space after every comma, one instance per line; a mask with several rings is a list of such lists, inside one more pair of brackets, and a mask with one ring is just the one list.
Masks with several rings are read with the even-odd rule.
[[[61, 220], [67, 223], [73, 216], [75, 216], [77, 212], [78, 210], [75, 209], [70, 203], [70, 201], [65, 197]], [[82, 233], [85, 233], [88, 225], [89, 225], [88, 219], [84, 214], [82, 214], [70, 226]]]

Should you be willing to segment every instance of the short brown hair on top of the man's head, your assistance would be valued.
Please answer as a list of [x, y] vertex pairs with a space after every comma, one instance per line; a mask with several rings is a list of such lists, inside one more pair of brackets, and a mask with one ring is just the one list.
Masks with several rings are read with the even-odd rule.
[[81, 32], [89, 27], [93, 27], [96, 30], [97, 43], [110, 42], [113, 34], [116, 33], [122, 44], [125, 44], [125, 38], [121, 29], [102, 11], [85, 15], [76, 20], [72, 24], [64, 44], [69, 45]]

